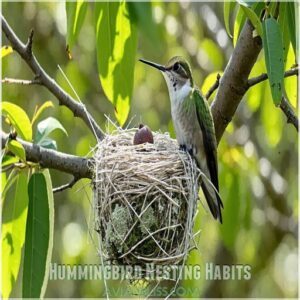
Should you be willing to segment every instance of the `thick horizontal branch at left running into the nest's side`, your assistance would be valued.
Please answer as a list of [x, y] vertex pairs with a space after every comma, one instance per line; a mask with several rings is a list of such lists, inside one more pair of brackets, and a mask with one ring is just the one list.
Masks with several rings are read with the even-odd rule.
[[[1, 132], [2, 147], [6, 144], [9, 135]], [[46, 149], [36, 144], [16, 139], [25, 149], [26, 160], [39, 163], [42, 168], [56, 169], [72, 174], [74, 177], [92, 178], [92, 159], [62, 153], [59, 151]]]

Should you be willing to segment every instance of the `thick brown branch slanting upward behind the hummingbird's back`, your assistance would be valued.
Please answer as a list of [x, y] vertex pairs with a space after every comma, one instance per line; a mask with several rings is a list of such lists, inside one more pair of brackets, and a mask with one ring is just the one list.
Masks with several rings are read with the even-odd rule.
[[216, 98], [211, 105], [218, 142], [247, 91], [248, 77], [261, 48], [261, 38], [253, 38], [253, 26], [247, 21], [221, 77]]

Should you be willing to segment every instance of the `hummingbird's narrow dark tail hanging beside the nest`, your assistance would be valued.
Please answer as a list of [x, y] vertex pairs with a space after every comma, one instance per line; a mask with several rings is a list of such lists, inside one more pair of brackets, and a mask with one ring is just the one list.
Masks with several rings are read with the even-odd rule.
[[215, 219], [219, 219], [222, 223], [222, 212], [223, 208], [222, 200], [219, 196], [218, 191], [213, 186], [213, 183], [208, 178], [202, 178], [201, 188], [208, 204], [209, 210]]

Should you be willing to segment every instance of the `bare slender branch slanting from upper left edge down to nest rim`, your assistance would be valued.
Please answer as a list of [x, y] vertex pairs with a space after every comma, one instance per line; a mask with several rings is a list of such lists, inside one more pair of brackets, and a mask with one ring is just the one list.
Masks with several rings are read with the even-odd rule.
[[91, 114], [86, 111], [85, 106], [67, 94], [40, 66], [36, 57], [32, 53], [33, 30], [30, 32], [27, 44], [24, 45], [2, 15], [1, 24], [2, 31], [10, 41], [12, 48], [23, 58], [35, 74], [36, 79], [41, 82], [41, 85], [46, 87], [58, 99], [61, 105], [68, 107], [74, 113], [75, 117], [81, 118], [93, 132], [95, 131], [98, 139], [103, 139], [104, 133]]

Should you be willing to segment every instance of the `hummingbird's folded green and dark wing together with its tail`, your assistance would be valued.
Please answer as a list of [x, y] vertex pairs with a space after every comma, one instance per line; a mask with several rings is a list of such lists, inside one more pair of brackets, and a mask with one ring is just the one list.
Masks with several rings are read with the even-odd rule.
[[[208, 106], [208, 102], [203, 98], [200, 91], [195, 89], [193, 91], [193, 98], [196, 105], [197, 119], [202, 131], [204, 152], [206, 155], [207, 167], [210, 174], [210, 180], [219, 192], [218, 180], [218, 159], [217, 159], [217, 141], [215, 135], [215, 128], [213, 118]], [[205, 195], [209, 209], [215, 219], [219, 219], [222, 223], [221, 207], [223, 207], [222, 200], [216, 191], [209, 186], [205, 180], [202, 181], [202, 190]]]

